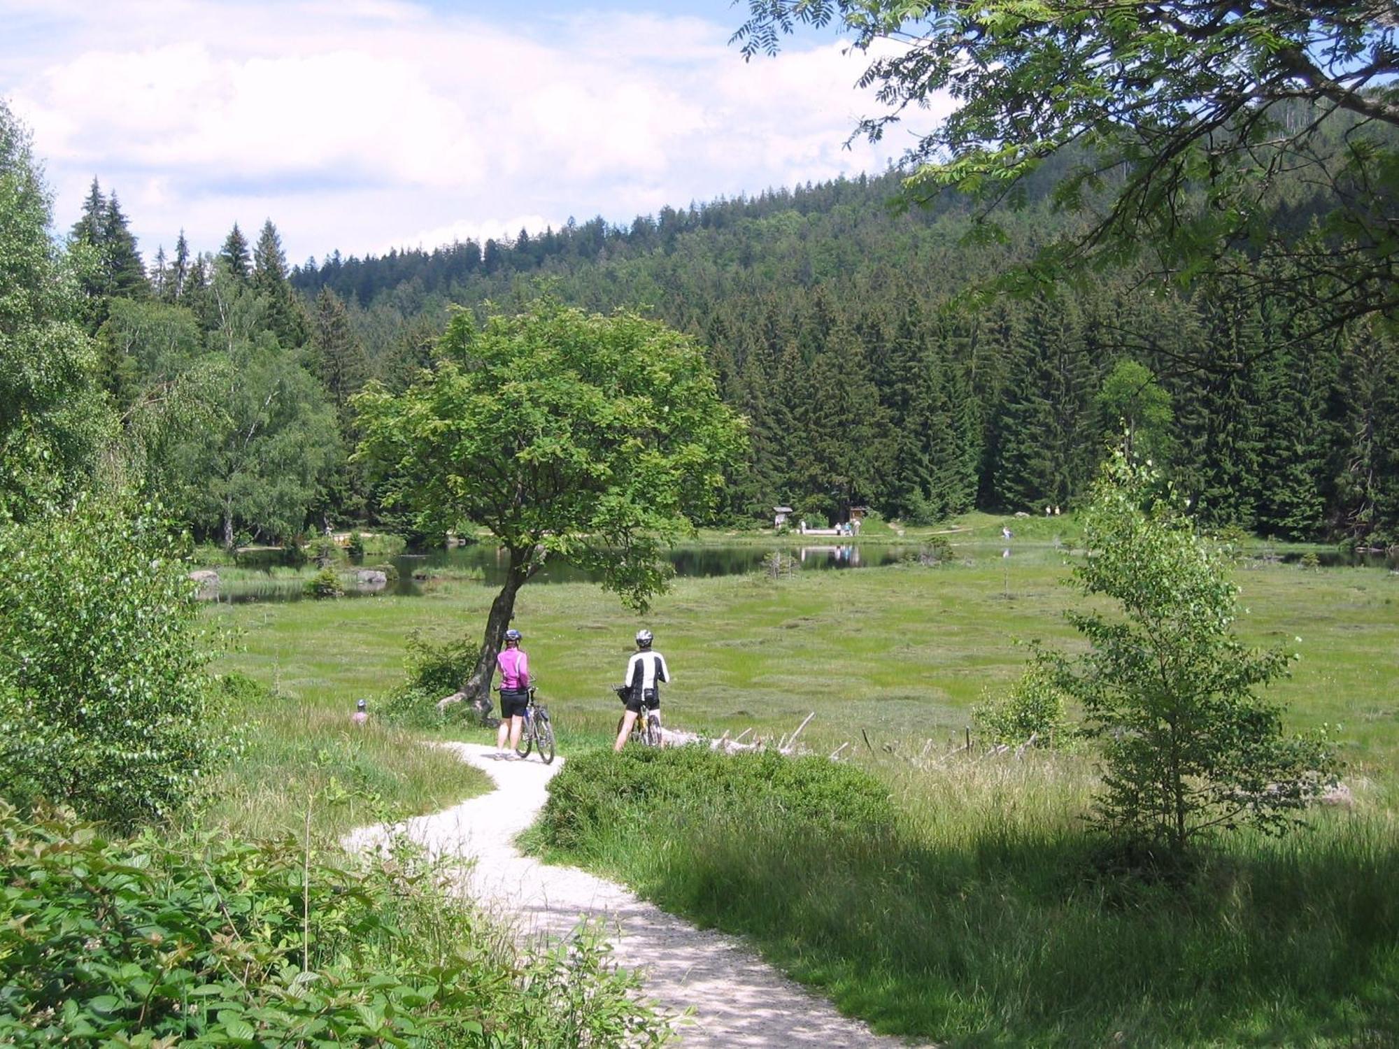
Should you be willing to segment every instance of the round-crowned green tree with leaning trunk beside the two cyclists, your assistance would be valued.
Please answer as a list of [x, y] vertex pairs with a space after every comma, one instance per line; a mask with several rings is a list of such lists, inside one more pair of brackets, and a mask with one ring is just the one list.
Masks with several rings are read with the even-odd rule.
[[744, 425], [701, 348], [634, 313], [551, 299], [484, 326], [456, 313], [441, 354], [402, 394], [374, 383], [354, 399], [358, 455], [424, 531], [481, 524], [506, 551], [464, 687], [480, 702], [515, 597], [548, 561], [600, 569], [638, 608], [662, 592], [663, 548], [715, 504]]

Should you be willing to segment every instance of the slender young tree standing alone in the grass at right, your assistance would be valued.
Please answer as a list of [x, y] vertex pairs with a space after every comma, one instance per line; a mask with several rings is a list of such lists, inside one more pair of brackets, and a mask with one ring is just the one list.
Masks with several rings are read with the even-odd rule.
[[[1102, 752], [1097, 820], [1181, 853], [1216, 829], [1279, 832], [1333, 776], [1321, 736], [1287, 736], [1256, 695], [1288, 653], [1234, 635], [1237, 587], [1161, 474], [1118, 452], [1084, 513], [1077, 587], [1108, 610], [1072, 611], [1083, 656], [1051, 657]], [[1095, 600], [1095, 603], [1097, 603]]]

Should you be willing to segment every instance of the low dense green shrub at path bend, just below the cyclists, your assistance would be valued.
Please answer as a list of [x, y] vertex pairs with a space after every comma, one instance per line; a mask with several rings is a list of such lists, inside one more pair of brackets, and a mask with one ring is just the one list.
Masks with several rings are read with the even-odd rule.
[[686, 808], [706, 820], [775, 814], [817, 834], [886, 828], [891, 820], [888, 790], [852, 765], [771, 751], [635, 747], [569, 758], [548, 782], [543, 841], [558, 849], [582, 848], [592, 835], [628, 820], [638, 803], [658, 814]]

